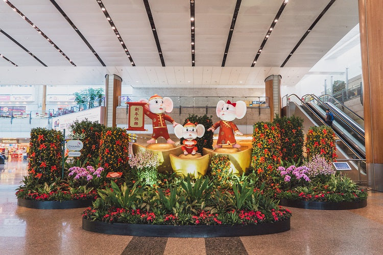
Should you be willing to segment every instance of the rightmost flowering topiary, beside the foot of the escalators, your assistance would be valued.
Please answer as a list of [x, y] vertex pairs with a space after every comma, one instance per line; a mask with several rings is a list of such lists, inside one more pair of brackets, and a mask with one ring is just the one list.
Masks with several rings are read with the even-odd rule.
[[320, 155], [327, 162], [336, 161], [338, 157], [336, 150], [335, 134], [331, 127], [325, 125], [310, 127], [306, 135], [307, 160]]

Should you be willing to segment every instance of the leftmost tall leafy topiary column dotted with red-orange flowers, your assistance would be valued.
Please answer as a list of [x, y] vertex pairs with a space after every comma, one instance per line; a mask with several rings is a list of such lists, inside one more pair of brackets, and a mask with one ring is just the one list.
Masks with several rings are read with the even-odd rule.
[[62, 133], [37, 127], [31, 130], [28, 173], [39, 182], [52, 182], [60, 174]]

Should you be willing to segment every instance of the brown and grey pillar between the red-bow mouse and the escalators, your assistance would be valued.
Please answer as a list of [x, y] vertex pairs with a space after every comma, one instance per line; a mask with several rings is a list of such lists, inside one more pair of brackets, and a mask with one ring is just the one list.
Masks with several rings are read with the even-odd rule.
[[270, 121], [273, 121], [275, 114], [281, 115], [281, 78], [281, 75], [270, 75], [265, 79], [266, 97], [269, 97]]

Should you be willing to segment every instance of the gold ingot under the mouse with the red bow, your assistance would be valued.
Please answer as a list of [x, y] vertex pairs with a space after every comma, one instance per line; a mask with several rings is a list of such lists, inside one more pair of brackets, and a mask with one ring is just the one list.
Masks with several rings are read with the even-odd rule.
[[250, 169], [251, 148], [245, 150], [237, 148], [217, 148], [214, 150], [202, 148], [202, 154], [229, 156], [231, 171], [236, 175], [242, 175], [242, 173]]

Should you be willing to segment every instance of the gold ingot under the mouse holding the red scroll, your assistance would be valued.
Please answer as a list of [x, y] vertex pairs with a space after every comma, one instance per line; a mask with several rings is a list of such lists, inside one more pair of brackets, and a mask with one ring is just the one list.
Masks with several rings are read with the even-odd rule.
[[132, 144], [133, 154], [137, 152], [145, 152], [150, 150], [153, 154], [158, 155], [159, 166], [157, 168], [158, 172], [172, 172], [172, 164], [170, 163], [170, 155], [180, 155], [182, 153], [181, 147], [176, 147], [174, 144], [170, 143], [152, 143], [147, 147], [139, 145], [137, 143]]

